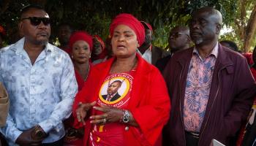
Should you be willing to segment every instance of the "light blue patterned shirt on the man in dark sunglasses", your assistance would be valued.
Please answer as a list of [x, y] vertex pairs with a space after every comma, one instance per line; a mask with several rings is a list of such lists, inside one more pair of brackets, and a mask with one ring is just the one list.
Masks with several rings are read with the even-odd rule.
[[1, 133], [15, 145], [23, 131], [39, 124], [49, 134], [42, 142], [55, 142], [64, 137], [62, 120], [69, 118], [78, 92], [74, 67], [67, 53], [49, 43], [32, 65], [24, 40], [0, 51], [0, 82], [10, 95], [7, 125]]

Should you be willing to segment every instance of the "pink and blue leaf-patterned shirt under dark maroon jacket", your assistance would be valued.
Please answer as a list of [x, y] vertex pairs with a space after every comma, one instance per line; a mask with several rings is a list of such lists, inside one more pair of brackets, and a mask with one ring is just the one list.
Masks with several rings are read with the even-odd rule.
[[200, 131], [206, 113], [217, 55], [218, 43], [206, 58], [201, 58], [196, 48], [193, 50], [184, 97], [183, 118], [186, 131]]

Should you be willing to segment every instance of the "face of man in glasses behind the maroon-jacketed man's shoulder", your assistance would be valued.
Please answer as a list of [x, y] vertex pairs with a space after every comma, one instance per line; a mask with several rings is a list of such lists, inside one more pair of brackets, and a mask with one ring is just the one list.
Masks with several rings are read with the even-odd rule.
[[173, 28], [170, 31], [168, 39], [170, 51], [175, 53], [178, 50], [183, 49], [189, 45], [188, 32], [181, 30], [180, 28]]

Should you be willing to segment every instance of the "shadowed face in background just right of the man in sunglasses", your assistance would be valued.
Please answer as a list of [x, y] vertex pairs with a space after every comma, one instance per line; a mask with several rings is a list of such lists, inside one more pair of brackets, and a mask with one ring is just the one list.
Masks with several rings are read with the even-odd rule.
[[60, 26], [58, 31], [58, 38], [61, 45], [69, 44], [69, 37], [71, 36], [72, 31], [69, 26]]

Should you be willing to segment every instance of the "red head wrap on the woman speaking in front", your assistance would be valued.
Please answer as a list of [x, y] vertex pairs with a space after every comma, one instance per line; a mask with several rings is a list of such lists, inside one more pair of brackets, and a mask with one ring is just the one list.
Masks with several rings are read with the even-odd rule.
[[122, 13], [116, 16], [110, 24], [110, 35], [113, 36], [113, 31], [118, 25], [125, 25], [135, 31], [138, 42], [140, 45], [143, 44], [145, 40], [145, 31], [144, 26], [140, 23], [140, 21], [135, 18], [133, 15]]

